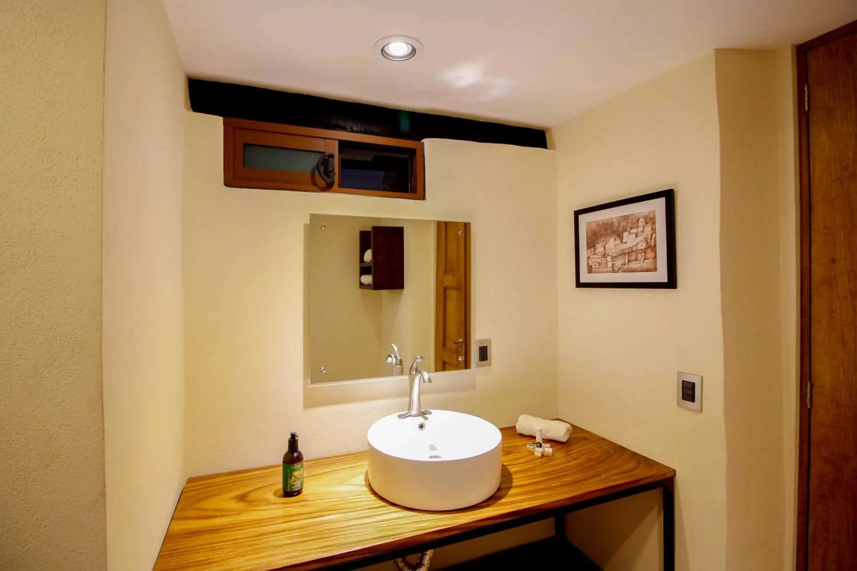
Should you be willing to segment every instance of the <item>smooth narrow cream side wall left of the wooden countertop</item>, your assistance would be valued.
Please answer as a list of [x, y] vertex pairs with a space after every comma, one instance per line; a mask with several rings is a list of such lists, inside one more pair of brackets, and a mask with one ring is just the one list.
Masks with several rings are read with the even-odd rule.
[[107, 563], [151, 569], [184, 484], [185, 80], [159, 0], [108, 0], [104, 153]]

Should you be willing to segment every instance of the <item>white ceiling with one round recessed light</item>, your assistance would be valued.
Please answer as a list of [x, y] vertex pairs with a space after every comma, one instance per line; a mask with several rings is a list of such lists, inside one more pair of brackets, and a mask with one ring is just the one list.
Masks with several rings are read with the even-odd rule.
[[[551, 127], [713, 48], [776, 49], [854, 0], [164, 0], [191, 77]], [[383, 36], [425, 51], [388, 62]]]

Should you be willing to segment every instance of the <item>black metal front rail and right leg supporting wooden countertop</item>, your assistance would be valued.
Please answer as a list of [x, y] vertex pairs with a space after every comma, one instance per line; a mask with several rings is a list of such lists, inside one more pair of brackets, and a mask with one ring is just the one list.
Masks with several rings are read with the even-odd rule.
[[566, 535], [566, 514], [576, 512], [580, 509], [591, 508], [592, 506], [602, 503], [613, 502], [614, 500], [623, 497], [636, 496], [645, 491], [661, 489], [662, 493], [662, 512], [663, 512], [663, 571], [675, 571], [675, 501], [674, 501], [674, 479], [667, 478], [649, 482], [643, 485], [637, 485], [626, 490], [614, 491], [606, 496], [593, 497], [582, 502], [572, 503], [567, 506], [562, 506], [557, 509], [542, 511], [537, 514], [523, 515], [511, 520], [500, 521], [491, 526], [482, 526], [467, 532], [461, 532], [446, 538], [435, 539], [423, 544], [412, 545], [411, 547], [391, 550], [386, 553], [380, 553], [375, 556], [363, 557], [350, 562], [334, 564], [325, 567], [334, 571], [351, 571], [366, 567], [375, 563], [388, 562], [398, 557], [405, 557], [420, 553], [426, 550], [433, 550], [446, 545], [457, 544], [467, 539], [479, 538], [491, 533], [502, 532], [513, 527], [525, 526], [527, 524], [549, 520], [554, 518], [554, 536], [565, 538]]

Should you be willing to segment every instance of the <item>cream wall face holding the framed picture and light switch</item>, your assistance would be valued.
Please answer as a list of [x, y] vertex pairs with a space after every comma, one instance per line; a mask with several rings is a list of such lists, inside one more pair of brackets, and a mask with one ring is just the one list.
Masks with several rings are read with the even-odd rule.
[[[553, 131], [557, 152], [560, 416], [676, 469], [676, 568], [723, 569], [726, 443], [720, 304], [720, 151], [708, 54]], [[574, 287], [573, 211], [675, 188], [678, 289]], [[703, 413], [675, 373], [704, 377]], [[573, 514], [607, 571], [660, 568], [656, 494]]]

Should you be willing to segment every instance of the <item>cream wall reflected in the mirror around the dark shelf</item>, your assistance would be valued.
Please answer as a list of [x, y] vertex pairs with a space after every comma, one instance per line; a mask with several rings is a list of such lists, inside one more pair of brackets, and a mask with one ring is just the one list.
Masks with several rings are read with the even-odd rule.
[[[403, 228], [404, 289], [358, 287], [359, 232], [372, 226]], [[389, 377], [393, 370], [385, 358], [392, 351], [390, 343], [396, 343], [407, 366], [422, 354], [423, 369], [434, 371], [435, 226], [433, 220], [310, 216], [309, 289], [304, 306], [313, 383]]]

